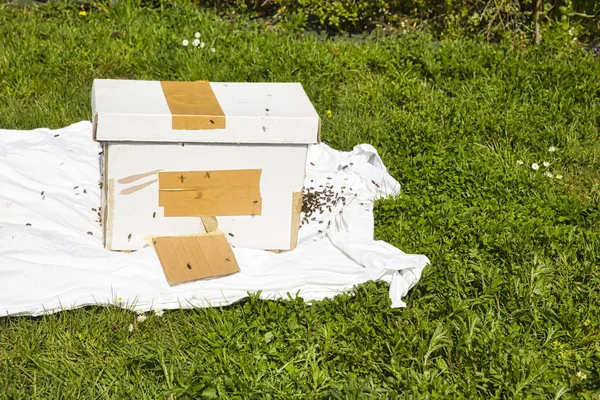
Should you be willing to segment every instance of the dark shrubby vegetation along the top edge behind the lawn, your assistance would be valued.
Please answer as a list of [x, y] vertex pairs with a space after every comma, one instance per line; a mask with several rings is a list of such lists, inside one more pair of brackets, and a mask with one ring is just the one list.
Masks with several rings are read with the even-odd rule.
[[[4, 0], [7, 1], [7, 0]], [[47, 0], [8, 0], [35, 6]], [[187, 0], [75, 0], [86, 10], [129, 6], [165, 9], [189, 6]], [[41, 2], [41, 3], [40, 3]], [[600, 39], [600, 2], [596, 0], [192, 0], [221, 16], [261, 18], [273, 29], [325, 31], [328, 34], [405, 35], [427, 31], [440, 38], [479, 37], [524, 43], [548, 29], [596, 45]], [[539, 11], [536, 16], [536, 10]]]

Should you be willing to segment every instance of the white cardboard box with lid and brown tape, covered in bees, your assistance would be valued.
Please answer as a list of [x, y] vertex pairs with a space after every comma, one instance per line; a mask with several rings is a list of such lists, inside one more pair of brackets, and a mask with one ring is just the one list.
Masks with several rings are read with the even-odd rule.
[[215, 223], [233, 246], [296, 246], [307, 150], [320, 136], [299, 83], [97, 79], [92, 114], [106, 248]]

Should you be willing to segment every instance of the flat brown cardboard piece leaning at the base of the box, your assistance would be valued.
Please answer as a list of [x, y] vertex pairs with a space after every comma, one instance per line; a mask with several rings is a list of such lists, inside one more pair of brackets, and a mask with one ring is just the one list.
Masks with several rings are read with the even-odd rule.
[[159, 236], [152, 239], [152, 244], [169, 285], [240, 271], [223, 232]]

